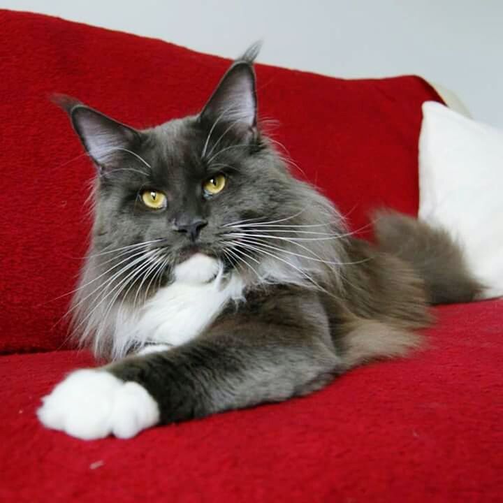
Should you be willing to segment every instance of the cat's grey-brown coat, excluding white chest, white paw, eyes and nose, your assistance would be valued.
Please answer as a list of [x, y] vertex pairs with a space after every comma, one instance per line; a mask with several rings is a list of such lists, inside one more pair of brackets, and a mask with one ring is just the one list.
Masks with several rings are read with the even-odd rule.
[[[378, 224], [373, 247], [289, 173], [257, 126], [257, 50], [231, 66], [200, 115], [152, 129], [59, 99], [98, 168], [92, 244], [71, 308], [82, 344], [123, 356], [132, 346], [117, 350], [121, 316], [173, 282], [187, 251], [219, 258], [224, 275], [245, 281], [242, 301], [195, 340], [107, 367], [145, 386], [163, 423], [304, 395], [360, 363], [402, 356], [418, 347], [409, 329], [430, 323], [428, 300], [467, 299], [476, 287], [462, 268], [463, 293], [446, 286], [459, 283], [459, 262], [438, 282], [438, 265], [418, 266], [416, 242], [423, 256], [445, 246], [437, 231], [393, 217]], [[203, 182], [218, 173], [226, 188], [205, 198]], [[166, 209], [143, 207], [143, 189], [163, 191]], [[207, 222], [196, 242], [177, 231], [180, 217]]]

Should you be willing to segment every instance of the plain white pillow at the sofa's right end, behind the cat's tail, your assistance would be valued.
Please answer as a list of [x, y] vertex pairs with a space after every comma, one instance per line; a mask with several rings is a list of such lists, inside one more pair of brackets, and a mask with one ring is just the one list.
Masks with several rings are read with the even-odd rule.
[[503, 296], [503, 131], [423, 103], [419, 218], [446, 228], [487, 286]]

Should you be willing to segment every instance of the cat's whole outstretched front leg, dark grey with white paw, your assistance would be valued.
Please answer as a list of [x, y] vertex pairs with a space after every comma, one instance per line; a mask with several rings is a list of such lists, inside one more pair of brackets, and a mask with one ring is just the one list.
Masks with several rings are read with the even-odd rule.
[[312, 302], [291, 307], [276, 309], [274, 320], [272, 309], [233, 312], [183, 346], [74, 372], [38, 415], [49, 428], [84, 439], [132, 437], [156, 423], [310, 393], [342, 364], [324, 314]]

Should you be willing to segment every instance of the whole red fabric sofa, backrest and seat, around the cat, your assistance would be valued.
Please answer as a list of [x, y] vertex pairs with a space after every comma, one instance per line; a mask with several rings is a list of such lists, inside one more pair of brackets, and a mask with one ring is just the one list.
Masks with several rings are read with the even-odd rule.
[[[425, 349], [306, 398], [127, 441], [43, 428], [41, 396], [95, 365], [61, 319], [87, 246], [94, 168], [48, 97], [149, 126], [200, 109], [228, 61], [30, 13], [0, 11], [0, 29], [1, 502], [503, 500], [502, 300], [437, 307]], [[279, 149], [360, 235], [372, 207], [416, 212], [421, 103], [439, 100], [425, 81], [257, 74]]]

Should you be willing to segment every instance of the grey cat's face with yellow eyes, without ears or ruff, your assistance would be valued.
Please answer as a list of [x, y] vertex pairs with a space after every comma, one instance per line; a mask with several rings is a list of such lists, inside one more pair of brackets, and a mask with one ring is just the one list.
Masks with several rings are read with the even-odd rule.
[[109, 163], [99, 179], [95, 247], [162, 240], [151, 246], [169, 251], [173, 265], [198, 251], [230, 263], [231, 225], [279, 216], [275, 192], [289, 179], [254, 131], [228, 126], [210, 134], [198, 117], [177, 119], [142, 131], [130, 152], [115, 154], [117, 168]]

